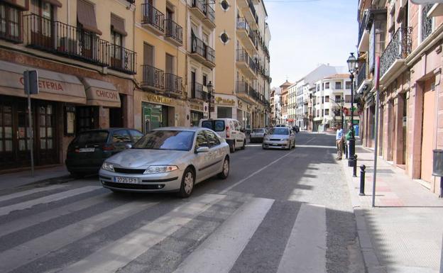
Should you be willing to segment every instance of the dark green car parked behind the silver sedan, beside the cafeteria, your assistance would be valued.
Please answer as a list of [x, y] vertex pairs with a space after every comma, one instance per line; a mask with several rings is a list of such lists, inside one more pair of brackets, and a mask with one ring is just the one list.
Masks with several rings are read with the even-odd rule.
[[98, 173], [104, 160], [121, 152], [143, 137], [130, 128], [86, 130], [79, 133], [67, 147], [65, 164], [73, 177]]

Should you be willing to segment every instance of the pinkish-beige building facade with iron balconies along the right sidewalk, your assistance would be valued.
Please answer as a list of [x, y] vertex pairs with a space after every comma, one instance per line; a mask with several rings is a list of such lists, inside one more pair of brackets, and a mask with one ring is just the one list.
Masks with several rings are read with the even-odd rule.
[[[432, 150], [443, 147], [443, 4], [359, 1], [358, 91], [363, 93], [363, 145], [439, 193]], [[375, 4], [375, 5], [374, 5]], [[373, 74], [380, 57], [379, 130]]]

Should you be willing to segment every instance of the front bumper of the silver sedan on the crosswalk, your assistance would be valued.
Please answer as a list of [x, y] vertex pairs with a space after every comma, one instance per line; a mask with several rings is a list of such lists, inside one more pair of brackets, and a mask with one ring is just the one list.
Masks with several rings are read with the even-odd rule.
[[[170, 192], [179, 191], [182, 182], [183, 171], [177, 169], [174, 172], [161, 174], [125, 174], [109, 172], [104, 169], [99, 171], [99, 181], [106, 189], [118, 191], [136, 192]], [[116, 177], [136, 178], [138, 183], [119, 183]]]

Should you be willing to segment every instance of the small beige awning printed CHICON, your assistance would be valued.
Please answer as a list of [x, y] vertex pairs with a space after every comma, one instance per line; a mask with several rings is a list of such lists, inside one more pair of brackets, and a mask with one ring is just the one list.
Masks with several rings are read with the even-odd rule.
[[120, 107], [120, 95], [114, 84], [98, 79], [83, 78], [87, 105]]

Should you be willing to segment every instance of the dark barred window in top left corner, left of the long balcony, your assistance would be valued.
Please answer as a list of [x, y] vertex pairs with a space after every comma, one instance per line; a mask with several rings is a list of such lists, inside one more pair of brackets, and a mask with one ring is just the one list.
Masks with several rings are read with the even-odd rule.
[[21, 41], [21, 11], [0, 3], [0, 38]]

